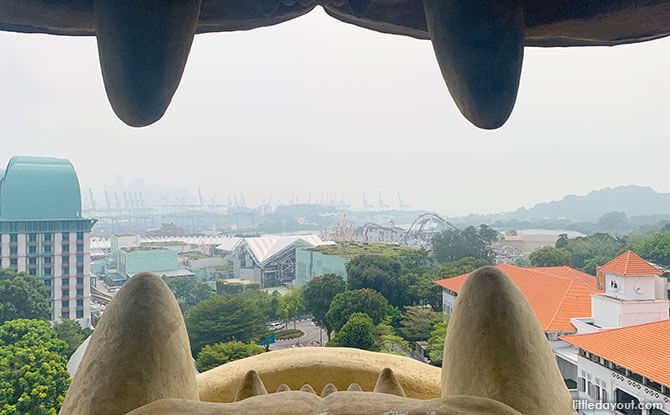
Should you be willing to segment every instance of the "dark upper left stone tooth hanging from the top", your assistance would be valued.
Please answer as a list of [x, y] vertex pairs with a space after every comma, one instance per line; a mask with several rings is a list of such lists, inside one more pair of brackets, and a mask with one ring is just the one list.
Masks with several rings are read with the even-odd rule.
[[126, 124], [159, 120], [177, 90], [202, 0], [95, 0], [102, 77]]

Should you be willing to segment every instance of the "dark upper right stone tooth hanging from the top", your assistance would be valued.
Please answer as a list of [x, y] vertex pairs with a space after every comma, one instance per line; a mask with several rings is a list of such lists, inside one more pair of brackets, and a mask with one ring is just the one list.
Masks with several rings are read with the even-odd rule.
[[423, 0], [435, 55], [458, 109], [477, 127], [509, 118], [519, 89], [520, 0]]

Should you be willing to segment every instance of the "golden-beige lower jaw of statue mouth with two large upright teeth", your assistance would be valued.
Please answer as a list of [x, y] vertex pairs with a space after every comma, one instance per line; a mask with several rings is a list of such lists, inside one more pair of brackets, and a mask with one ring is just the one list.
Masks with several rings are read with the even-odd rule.
[[107, 307], [70, 385], [73, 414], [568, 415], [572, 399], [521, 291], [484, 267], [463, 284], [443, 367], [358, 349], [263, 353], [195, 375], [184, 320], [157, 276]]

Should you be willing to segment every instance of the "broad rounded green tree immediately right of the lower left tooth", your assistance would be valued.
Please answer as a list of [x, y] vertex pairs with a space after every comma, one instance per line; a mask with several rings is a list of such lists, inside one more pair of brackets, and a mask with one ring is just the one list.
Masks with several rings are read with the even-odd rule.
[[267, 331], [258, 304], [241, 295], [213, 295], [193, 307], [185, 320], [194, 354], [208, 344], [250, 343]]

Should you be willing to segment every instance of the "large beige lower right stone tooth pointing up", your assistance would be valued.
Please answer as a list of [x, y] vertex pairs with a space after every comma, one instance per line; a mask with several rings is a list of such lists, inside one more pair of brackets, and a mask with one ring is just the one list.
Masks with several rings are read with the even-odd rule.
[[575, 413], [533, 309], [495, 267], [480, 268], [463, 283], [443, 356], [443, 398], [494, 399], [522, 414], [537, 413], [537, 408], [546, 414]]

